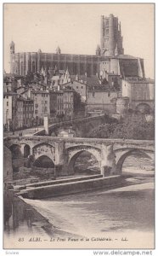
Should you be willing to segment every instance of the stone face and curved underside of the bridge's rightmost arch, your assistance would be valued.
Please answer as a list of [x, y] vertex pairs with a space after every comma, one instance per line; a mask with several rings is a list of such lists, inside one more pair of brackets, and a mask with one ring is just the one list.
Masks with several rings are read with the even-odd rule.
[[154, 152], [151, 150], [144, 150], [139, 148], [122, 148], [120, 150], [116, 150], [116, 172], [121, 174], [122, 173], [122, 166], [124, 161], [127, 159], [128, 156], [133, 155], [133, 153], [143, 153], [144, 156], [149, 157], [150, 159], [154, 160]]

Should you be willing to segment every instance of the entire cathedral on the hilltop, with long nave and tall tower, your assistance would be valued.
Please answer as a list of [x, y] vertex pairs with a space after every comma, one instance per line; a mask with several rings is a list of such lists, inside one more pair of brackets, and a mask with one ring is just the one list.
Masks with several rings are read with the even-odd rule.
[[10, 73], [25, 76], [27, 73], [40, 73], [54, 69], [69, 70], [71, 75], [87, 74], [87, 77], [99, 75], [102, 78], [106, 73], [115, 73], [121, 78], [144, 78], [144, 60], [124, 55], [121, 36], [121, 22], [114, 15], [101, 16], [100, 46], [97, 46], [95, 55], [62, 54], [59, 47], [56, 53], [15, 52], [15, 45], [10, 44]]

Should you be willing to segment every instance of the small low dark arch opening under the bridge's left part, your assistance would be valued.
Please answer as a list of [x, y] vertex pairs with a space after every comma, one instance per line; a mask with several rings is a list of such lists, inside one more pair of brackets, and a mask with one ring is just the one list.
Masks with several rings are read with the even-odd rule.
[[41, 155], [34, 161], [33, 166], [40, 168], [54, 168], [54, 161], [48, 157], [48, 155]]

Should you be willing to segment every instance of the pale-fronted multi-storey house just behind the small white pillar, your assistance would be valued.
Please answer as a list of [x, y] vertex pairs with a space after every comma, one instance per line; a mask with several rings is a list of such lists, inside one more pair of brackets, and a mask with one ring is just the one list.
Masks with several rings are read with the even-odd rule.
[[34, 119], [37, 125], [42, 124], [44, 115], [50, 114], [49, 92], [47, 90], [31, 91], [31, 99], [34, 101]]

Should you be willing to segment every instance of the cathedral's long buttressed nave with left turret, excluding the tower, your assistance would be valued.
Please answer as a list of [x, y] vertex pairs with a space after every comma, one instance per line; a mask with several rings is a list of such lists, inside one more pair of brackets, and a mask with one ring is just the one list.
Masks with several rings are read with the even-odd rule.
[[41, 69], [58, 67], [59, 70], [69, 69], [71, 74], [88, 75], [99, 73], [98, 55], [68, 55], [56, 53], [37, 52], [16, 53], [15, 45], [10, 44], [10, 72], [25, 76], [27, 73], [40, 73]]

